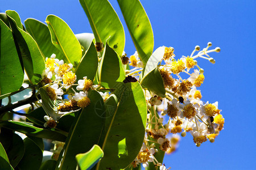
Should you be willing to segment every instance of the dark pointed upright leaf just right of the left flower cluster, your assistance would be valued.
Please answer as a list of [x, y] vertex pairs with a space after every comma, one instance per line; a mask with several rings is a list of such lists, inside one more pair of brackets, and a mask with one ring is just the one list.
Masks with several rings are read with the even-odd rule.
[[96, 48], [91, 42], [89, 49], [85, 53], [84, 57], [82, 57], [81, 62], [77, 66], [76, 70], [76, 79], [83, 79], [84, 76], [87, 76], [87, 79], [94, 80], [98, 69], [98, 56]]

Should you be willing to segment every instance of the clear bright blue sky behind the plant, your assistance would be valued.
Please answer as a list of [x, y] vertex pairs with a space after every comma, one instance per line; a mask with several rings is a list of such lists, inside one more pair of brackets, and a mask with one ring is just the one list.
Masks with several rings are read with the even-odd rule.
[[[225, 118], [224, 130], [216, 142], [200, 147], [192, 137], [181, 138], [180, 147], [166, 156], [164, 163], [172, 169], [256, 169], [255, 128], [255, 46], [256, 3], [246, 1], [141, 1], [154, 31], [155, 47], [173, 46], [177, 57], [191, 54], [195, 45], [208, 41], [220, 46], [211, 56], [213, 65], [199, 59], [205, 70], [200, 90], [203, 100], [219, 102]], [[123, 22], [117, 2], [111, 0]], [[1, 12], [15, 10], [22, 22], [35, 18], [42, 22], [54, 14], [65, 20], [74, 33], [92, 32], [86, 15], [76, 1], [2, 1]], [[123, 22], [125, 23], [125, 22]], [[130, 56], [134, 45], [125, 27], [125, 51]]]

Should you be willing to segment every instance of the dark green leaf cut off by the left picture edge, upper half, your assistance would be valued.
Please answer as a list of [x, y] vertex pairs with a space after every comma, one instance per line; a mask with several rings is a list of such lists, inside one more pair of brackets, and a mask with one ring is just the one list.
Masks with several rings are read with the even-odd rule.
[[19, 61], [13, 33], [0, 20], [0, 99], [19, 90], [23, 83], [23, 69]]

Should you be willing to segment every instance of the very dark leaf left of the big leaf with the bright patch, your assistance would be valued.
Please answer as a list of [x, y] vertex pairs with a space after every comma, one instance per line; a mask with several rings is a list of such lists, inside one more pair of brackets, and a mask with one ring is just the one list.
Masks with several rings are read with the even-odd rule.
[[82, 109], [69, 132], [60, 169], [75, 169], [75, 156], [89, 151], [100, 139], [105, 121], [104, 101], [97, 91], [89, 91], [88, 97], [90, 105]]

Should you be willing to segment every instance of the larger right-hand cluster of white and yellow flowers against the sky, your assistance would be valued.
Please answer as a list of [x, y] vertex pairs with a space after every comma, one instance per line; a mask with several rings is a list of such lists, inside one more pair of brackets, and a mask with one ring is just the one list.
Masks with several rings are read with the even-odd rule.
[[[218, 109], [218, 102], [205, 103], [201, 100], [201, 91], [197, 90], [205, 77], [204, 69], [199, 67], [196, 58], [215, 63], [208, 53], [220, 52], [220, 48], [208, 50], [210, 46], [211, 42], [203, 50], [196, 46], [190, 56], [182, 56], [180, 59], [175, 59], [174, 48], [165, 48], [165, 64], [159, 65], [158, 70], [163, 78], [166, 96], [162, 98], [150, 91], [144, 91], [148, 103], [147, 128], [142, 150], [133, 162], [134, 167], [139, 163], [147, 167], [148, 162], [152, 162], [159, 169], [167, 169], [154, 157], [158, 150], [171, 154], [179, 145], [180, 135], [185, 137], [187, 132], [193, 136], [196, 146], [200, 146], [207, 139], [214, 142], [223, 129], [224, 118]], [[194, 55], [196, 51], [199, 52]], [[130, 65], [138, 67], [139, 60], [135, 62], [134, 56], [130, 58]], [[189, 73], [191, 69], [194, 69], [193, 73]], [[188, 78], [181, 78], [180, 73], [187, 74]]]

